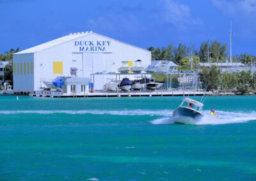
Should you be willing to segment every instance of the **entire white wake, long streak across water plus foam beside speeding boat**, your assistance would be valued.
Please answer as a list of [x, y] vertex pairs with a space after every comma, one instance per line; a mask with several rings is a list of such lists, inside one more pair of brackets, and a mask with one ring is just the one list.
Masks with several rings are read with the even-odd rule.
[[[159, 116], [160, 118], [150, 121], [151, 124], [174, 124], [172, 119], [173, 110], [1, 110], [0, 115], [12, 115], [12, 114], [54, 114], [54, 113], [64, 113], [71, 115], [149, 115], [149, 116]], [[256, 120], [256, 112], [223, 112], [217, 111], [219, 118], [215, 118], [209, 115], [210, 110], [204, 111], [204, 117], [196, 124], [231, 124], [239, 122], [248, 122], [249, 120]]]

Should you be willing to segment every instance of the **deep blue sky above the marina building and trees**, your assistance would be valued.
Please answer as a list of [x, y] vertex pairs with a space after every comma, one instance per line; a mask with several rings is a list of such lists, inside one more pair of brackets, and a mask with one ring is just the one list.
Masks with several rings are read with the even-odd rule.
[[141, 48], [202, 41], [256, 55], [256, 0], [0, 0], [0, 53], [34, 47], [69, 33], [93, 31]]

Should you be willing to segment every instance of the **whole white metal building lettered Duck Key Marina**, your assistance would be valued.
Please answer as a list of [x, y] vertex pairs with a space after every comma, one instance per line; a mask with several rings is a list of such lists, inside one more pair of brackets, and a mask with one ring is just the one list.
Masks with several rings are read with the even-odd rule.
[[[92, 73], [118, 73], [122, 61], [151, 64], [151, 52], [97, 33], [74, 33], [13, 55], [13, 90], [37, 91], [58, 76], [90, 78]], [[113, 75], [95, 76], [94, 89], [101, 90]]]

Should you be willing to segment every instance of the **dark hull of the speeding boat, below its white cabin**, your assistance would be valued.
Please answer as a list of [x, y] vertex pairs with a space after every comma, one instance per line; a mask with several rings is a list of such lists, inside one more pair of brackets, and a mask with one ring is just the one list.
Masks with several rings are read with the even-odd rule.
[[196, 124], [202, 117], [202, 113], [187, 107], [179, 107], [173, 112], [173, 120], [178, 124]]

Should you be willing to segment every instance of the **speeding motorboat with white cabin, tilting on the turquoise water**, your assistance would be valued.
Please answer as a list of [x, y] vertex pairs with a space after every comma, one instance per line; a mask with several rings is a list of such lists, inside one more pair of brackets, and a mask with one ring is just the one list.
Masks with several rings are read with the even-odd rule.
[[183, 98], [180, 106], [173, 112], [173, 120], [178, 124], [196, 124], [204, 117], [203, 104], [189, 98]]

